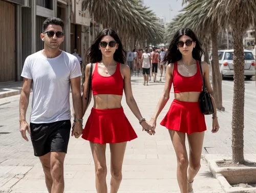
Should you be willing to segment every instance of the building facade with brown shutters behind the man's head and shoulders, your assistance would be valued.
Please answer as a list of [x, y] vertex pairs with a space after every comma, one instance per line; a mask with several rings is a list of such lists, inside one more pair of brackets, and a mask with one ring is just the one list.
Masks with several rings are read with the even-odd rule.
[[90, 46], [91, 18], [79, 0], [0, 0], [0, 82], [20, 81], [27, 56], [44, 48], [42, 23], [59, 17], [65, 23], [65, 41], [60, 49], [83, 58]]

